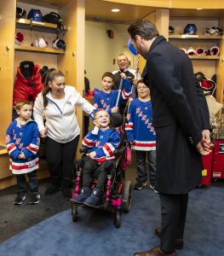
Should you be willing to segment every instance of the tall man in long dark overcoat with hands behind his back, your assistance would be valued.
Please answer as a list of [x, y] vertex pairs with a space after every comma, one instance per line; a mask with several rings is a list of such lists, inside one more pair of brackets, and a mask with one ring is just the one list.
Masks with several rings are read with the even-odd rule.
[[188, 192], [201, 183], [201, 155], [210, 153], [209, 110], [196, 84], [188, 56], [159, 36], [148, 20], [128, 29], [135, 49], [146, 59], [142, 73], [152, 96], [157, 134], [157, 190], [162, 229], [160, 245], [135, 256], [175, 256], [183, 247]]

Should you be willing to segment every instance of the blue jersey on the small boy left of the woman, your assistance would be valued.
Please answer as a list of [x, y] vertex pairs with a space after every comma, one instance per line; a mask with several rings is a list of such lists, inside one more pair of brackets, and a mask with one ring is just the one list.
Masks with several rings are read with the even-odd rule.
[[[14, 119], [6, 131], [6, 144], [10, 157], [9, 169], [14, 174], [32, 172], [38, 168], [39, 131], [32, 119], [26, 125], [21, 125], [19, 118]], [[22, 152], [26, 159], [18, 159]]]

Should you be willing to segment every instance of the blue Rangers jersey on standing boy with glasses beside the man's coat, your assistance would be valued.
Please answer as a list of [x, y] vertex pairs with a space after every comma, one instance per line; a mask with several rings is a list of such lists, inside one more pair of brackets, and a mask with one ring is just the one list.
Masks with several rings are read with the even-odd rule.
[[141, 102], [136, 98], [129, 104], [127, 114], [128, 124], [125, 124], [128, 141], [136, 150], [156, 150], [156, 132], [152, 127], [151, 101]]

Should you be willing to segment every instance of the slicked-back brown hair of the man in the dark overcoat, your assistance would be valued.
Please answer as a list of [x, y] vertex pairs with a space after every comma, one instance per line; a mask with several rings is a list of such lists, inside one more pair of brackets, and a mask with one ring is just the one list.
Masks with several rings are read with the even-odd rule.
[[128, 32], [131, 39], [134, 41], [136, 35], [141, 36], [141, 38], [144, 38], [145, 40], [150, 40], [159, 36], [157, 27], [149, 20], [135, 21], [129, 26]]

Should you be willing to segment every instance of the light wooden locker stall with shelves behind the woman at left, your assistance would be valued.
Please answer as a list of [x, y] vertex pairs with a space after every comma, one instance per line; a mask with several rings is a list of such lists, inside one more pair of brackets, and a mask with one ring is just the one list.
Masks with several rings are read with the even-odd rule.
[[[47, 22], [31, 23], [27, 19], [16, 19], [16, 6], [26, 9], [40, 9], [43, 15], [54, 11], [63, 20], [65, 31], [57, 34], [57, 26]], [[12, 11], [14, 10], [14, 11]], [[84, 1], [83, 0], [8, 0], [2, 3], [0, 9], [0, 83], [3, 91], [0, 94], [0, 189], [15, 183], [14, 176], [9, 171], [9, 156], [5, 149], [5, 131], [12, 120], [14, 78], [20, 61], [33, 61], [40, 67], [59, 68], [66, 75], [66, 84], [83, 91], [84, 70]], [[22, 44], [14, 44], [16, 32], [24, 34]], [[64, 39], [66, 50], [52, 49], [52, 41]], [[32, 47], [37, 38], [48, 41], [47, 48]], [[78, 65], [77, 65], [78, 63]], [[78, 122], [82, 131], [82, 111], [78, 110]], [[38, 177], [48, 177], [47, 164], [41, 160]]]

